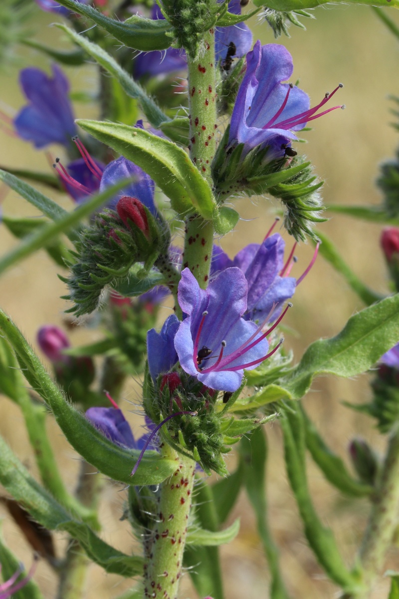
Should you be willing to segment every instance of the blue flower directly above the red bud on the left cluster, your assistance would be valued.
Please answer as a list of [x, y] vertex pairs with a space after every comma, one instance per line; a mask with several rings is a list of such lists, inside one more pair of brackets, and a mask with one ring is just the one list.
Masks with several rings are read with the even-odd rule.
[[129, 196], [131, 198], [139, 199], [141, 203], [150, 210], [151, 214], [156, 216], [157, 209], [154, 204], [154, 181], [147, 175], [147, 173], [144, 173], [140, 167], [136, 166], [133, 162], [130, 162], [130, 160], [127, 160], [123, 156], [109, 162], [105, 167], [100, 181], [100, 191], [114, 185], [121, 179], [132, 176], [135, 177], [135, 181], [121, 189], [120, 192], [112, 198], [112, 201], [108, 203], [108, 207], [115, 209], [121, 198]]

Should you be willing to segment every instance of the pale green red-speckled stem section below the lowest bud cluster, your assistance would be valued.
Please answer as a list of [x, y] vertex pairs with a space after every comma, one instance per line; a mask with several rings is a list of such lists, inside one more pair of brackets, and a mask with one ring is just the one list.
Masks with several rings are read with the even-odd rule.
[[144, 543], [144, 597], [176, 599], [196, 464], [166, 444], [161, 451], [163, 456], [176, 461], [176, 471], [162, 483], [157, 513], [154, 514], [156, 525], [151, 537]]

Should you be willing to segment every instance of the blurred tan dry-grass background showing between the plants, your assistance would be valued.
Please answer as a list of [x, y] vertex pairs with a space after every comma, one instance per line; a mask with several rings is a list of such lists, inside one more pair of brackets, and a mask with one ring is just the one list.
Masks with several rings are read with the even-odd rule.
[[[394, 14], [393, 9], [389, 14]], [[313, 103], [332, 90], [339, 81], [345, 84], [339, 92], [339, 102], [345, 102], [346, 110], [337, 110], [314, 123], [315, 129], [306, 134], [309, 144], [306, 150], [316, 172], [325, 179], [323, 195], [327, 204], [377, 204], [379, 192], [374, 186], [378, 164], [392, 156], [398, 136], [389, 126], [393, 117], [389, 114], [391, 103], [388, 95], [399, 95], [399, 44], [366, 7], [341, 5], [323, 7], [315, 11], [317, 20], [307, 21], [307, 32], [291, 28], [291, 38], [280, 38], [294, 57], [294, 77], [300, 78], [300, 86], [306, 90]], [[32, 28], [41, 29], [40, 38], [46, 43], [57, 44], [57, 32], [47, 27], [52, 16], [37, 13]], [[255, 39], [263, 43], [273, 42], [271, 32], [265, 25], [254, 24]], [[21, 66], [44, 65], [41, 56], [34, 52], [19, 50]], [[91, 65], [72, 71], [74, 92], [93, 92], [96, 89], [95, 69]], [[2, 107], [19, 108], [23, 98], [16, 83], [17, 70], [10, 69], [0, 75]], [[95, 105], [76, 104], [80, 117], [96, 116]], [[1, 135], [0, 164], [8, 167], [38, 168], [48, 171], [48, 164], [41, 152], [35, 152], [28, 144], [17, 138]], [[64, 207], [71, 202], [59, 197]], [[239, 200], [236, 207], [242, 219], [236, 231], [223, 240], [223, 248], [234, 253], [250, 241], [260, 241], [273, 219], [275, 204], [266, 199]], [[6, 214], [35, 216], [35, 211], [14, 192], [5, 197], [2, 209]], [[328, 216], [328, 215], [327, 215]], [[379, 292], [388, 292], [388, 280], [379, 249], [381, 227], [373, 223], [358, 222], [342, 216], [331, 216], [321, 231], [330, 235], [349, 265], [368, 285]], [[285, 235], [288, 246], [291, 240]], [[13, 247], [16, 241], [1, 229], [0, 253]], [[299, 275], [308, 264], [313, 249], [302, 244], [297, 251]], [[0, 281], [0, 305], [20, 326], [29, 340], [35, 344], [35, 333], [43, 323], [60, 324], [65, 302], [59, 299], [65, 290], [57, 279], [57, 269], [43, 252], [7, 271]], [[287, 323], [296, 329], [297, 337], [287, 335], [287, 347], [293, 347], [296, 359], [304, 347], [319, 337], [336, 334], [351, 314], [362, 308], [358, 299], [345, 282], [319, 258], [307, 279], [301, 284], [294, 298], [294, 308], [287, 316]], [[75, 344], [89, 342], [99, 337], [95, 329], [78, 328], [73, 332]], [[399, 337], [399, 335], [398, 335]], [[139, 431], [141, 418], [137, 414], [139, 385], [130, 381], [124, 391], [122, 407], [133, 429]], [[367, 376], [356, 380], [339, 380], [332, 377], [316, 380], [312, 391], [304, 399], [304, 405], [325, 435], [333, 449], [346, 459], [346, 448], [354, 435], [363, 435], [382, 450], [385, 440], [377, 434], [367, 418], [342, 407], [341, 401], [363, 403], [369, 397]], [[57, 459], [70, 488], [73, 488], [78, 470], [78, 457], [66, 443], [54, 423], [48, 422], [51, 439], [57, 451]], [[17, 452], [33, 474], [36, 473], [32, 452], [27, 441], [22, 418], [6, 398], [0, 397], [0, 432]], [[287, 485], [282, 461], [281, 436], [278, 425], [269, 426], [270, 453], [268, 465], [267, 494], [270, 503], [270, 522], [273, 534], [281, 547], [281, 565], [288, 588], [296, 599], [332, 598], [336, 588], [331, 585], [316, 564], [304, 540], [290, 489]], [[234, 451], [232, 452], [234, 453]], [[228, 458], [234, 465], [234, 455]], [[356, 547], [366, 522], [366, 501], [349, 502], [339, 492], [328, 486], [322, 475], [309, 464], [309, 479], [316, 507], [324, 522], [331, 525], [348, 562], [354, 559]], [[119, 522], [124, 492], [117, 486], [105, 483], [100, 518], [103, 538], [120, 549], [129, 552], [132, 534], [126, 522]], [[223, 547], [224, 580], [228, 599], [255, 599], [267, 597], [269, 574], [255, 530], [254, 518], [246, 498], [241, 496], [232, 519], [241, 516], [241, 532], [233, 543]], [[5, 517], [0, 506], [0, 517]], [[19, 531], [8, 521], [3, 524], [5, 539], [19, 558], [26, 564], [31, 552]], [[59, 546], [65, 536], [57, 537]], [[399, 569], [399, 553], [392, 552], [389, 567]], [[43, 589], [45, 599], [54, 597], [55, 583], [50, 568], [39, 564], [35, 577]], [[109, 599], [117, 597], [127, 588], [126, 581], [114, 575], [106, 575], [96, 565], [89, 568], [85, 599]], [[373, 599], [388, 595], [386, 581], [374, 591]], [[184, 577], [181, 597], [194, 597], [188, 576]]]

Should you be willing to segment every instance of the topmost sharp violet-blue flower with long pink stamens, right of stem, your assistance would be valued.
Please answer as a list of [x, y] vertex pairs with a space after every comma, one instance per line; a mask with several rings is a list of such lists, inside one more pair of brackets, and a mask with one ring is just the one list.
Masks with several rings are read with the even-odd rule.
[[310, 108], [309, 96], [287, 81], [293, 73], [293, 59], [284, 46], [257, 41], [246, 56], [246, 72], [239, 87], [230, 125], [229, 144], [245, 144], [244, 155], [255, 146], [269, 147], [267, 159], [285, 154], [285, 146], [297, 140], [310, 120], [336, 108], [316, 112], [342, 87], [339, 84], [321, 102]]

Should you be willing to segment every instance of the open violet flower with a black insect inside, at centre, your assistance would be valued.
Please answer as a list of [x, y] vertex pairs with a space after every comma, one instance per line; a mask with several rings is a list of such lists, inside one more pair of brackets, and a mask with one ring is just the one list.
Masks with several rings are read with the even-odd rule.
[[187, 317], [176, 332], [175, 349], [183, 370], [211, 389], [236, 391], [244, 370], [256, 368], [279, 347], [268, 353], [266, 336], [280, 319], [263, 333], [264, 323], [242, 318], [247, 294], [239, 268], [227, 268], [207, 289], [200, 289], [188, 268], [181, 273], [178, 301]]

